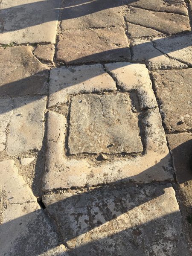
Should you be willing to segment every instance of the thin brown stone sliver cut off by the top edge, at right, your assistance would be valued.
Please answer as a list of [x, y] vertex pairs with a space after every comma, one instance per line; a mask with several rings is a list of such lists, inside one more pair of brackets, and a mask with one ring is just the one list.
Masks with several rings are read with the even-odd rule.
[[123, 3], [156, 12], [172, 12], [188, 15], [186, 4], [183, 0], [123, 0]]

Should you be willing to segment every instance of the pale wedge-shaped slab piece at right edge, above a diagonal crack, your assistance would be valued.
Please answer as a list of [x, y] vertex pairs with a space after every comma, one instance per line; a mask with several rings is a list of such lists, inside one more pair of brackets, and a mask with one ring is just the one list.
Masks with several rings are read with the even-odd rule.
[[169, 38], [156, 38], [155, 47], [178, 61], [192, 65], [192, 34]]

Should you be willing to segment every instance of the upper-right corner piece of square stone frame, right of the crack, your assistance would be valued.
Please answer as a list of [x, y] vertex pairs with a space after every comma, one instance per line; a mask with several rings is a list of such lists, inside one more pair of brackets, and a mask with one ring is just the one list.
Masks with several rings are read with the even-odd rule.
[[157, 107], [148, 69], [144, 64], [115, 62], [105, 64], [105, 69], [116, 80], [121, 90], [137, 90], [141, 109]]

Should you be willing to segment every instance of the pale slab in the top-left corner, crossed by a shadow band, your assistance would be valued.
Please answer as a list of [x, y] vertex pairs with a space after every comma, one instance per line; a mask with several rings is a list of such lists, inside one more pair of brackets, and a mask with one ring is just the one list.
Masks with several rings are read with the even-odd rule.
[[61, 0], [2, 0], [0, 44], [55, 43]]

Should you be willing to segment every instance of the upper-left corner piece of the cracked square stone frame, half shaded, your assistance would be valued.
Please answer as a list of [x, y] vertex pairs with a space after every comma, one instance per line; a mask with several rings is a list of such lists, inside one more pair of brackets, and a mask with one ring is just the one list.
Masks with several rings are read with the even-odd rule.
[[49, 107], [66, 103], [68, 95], [116, 90], [101, 64], [52, 69], [49, 84]]

